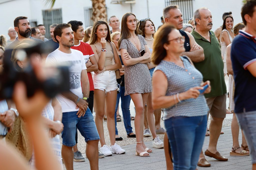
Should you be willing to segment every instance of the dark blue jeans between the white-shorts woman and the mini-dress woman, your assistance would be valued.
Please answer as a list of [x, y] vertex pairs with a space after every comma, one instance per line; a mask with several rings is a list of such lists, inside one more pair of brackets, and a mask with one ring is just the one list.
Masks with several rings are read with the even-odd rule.
[[131, 126], [131, 114], [130, 114], [130, 102], [131, 102], [131, 96], [127, 95], [124, 96], [124, 90], [125, 87], [121, 86], [120, 93], [117, 94], [116, 98], [116, 104], [115, 104], [115, 134], [118, 135], [118, 130], [116, 128], [116, 111], [119, 105], [119, 99], [121, 97], [121, 109], [123, 113], [123, 121], [124, 121], [124, 127], [126, 130], [127, 135], [130, 133], [133, 133], [132, 126]]

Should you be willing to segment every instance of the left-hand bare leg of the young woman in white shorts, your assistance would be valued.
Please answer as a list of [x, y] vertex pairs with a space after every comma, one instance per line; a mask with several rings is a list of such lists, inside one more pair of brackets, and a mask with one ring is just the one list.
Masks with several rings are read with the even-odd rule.
[[[105, 91], [94, 89], [94, 110], [95, 110], [95, 124], [100, 136], [101, 147], [106, 145], [104, 138], [103, 116], [105, 111]], [[115, 124], [115, 123], [114, 123]]]

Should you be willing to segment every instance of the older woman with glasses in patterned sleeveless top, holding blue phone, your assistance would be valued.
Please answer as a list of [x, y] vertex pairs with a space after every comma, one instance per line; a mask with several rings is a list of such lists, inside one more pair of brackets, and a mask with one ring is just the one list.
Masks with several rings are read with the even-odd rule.
[[202, 74], [191, 60], [181, 56], [184, 51], [184, 37], [174, 26], [163, 25], [156, 33], [151, 59], [157, 65], [152, 104], [154, 109], [164, 108], [174, 169], [196, 169], [209, 110], [203, 94], [211, 87], [209, 81], [202, 83]]

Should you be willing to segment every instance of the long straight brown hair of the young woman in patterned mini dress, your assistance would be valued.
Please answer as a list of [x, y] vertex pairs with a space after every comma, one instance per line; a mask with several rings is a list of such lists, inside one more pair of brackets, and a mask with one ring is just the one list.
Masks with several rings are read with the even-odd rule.
[[[130, 15], [133, 15], [136, 19], [136, 16], [132, 13], [132, 12], [127, 12], [126, 14], [123, 15], [122, 17], [122, 23], [121, 23], [121, 36], [120, 36], [120, 39], [118, 41], [118, 46], [120, 47], [120, 44], [122, 42], [123, 39], [126, 39], [126, 38], [130, 38], [131, 37], [131, 33], [129, 31], [129, 28], [127, 27], [127, 24], [126, 24], [126, 21], [127, 21], [127, 18], [130, 16]], [[135, 30], [135, 34], [138, 35], [138, 25], [136, 24], [136, 30]]]

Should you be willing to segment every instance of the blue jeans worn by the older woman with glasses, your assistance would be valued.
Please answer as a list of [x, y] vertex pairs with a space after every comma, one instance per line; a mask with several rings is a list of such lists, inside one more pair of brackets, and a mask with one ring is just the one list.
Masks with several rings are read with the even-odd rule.
[[204, 143], [207, 115], [171, 117], [164, 121], [174, 170], [194, 170]]

